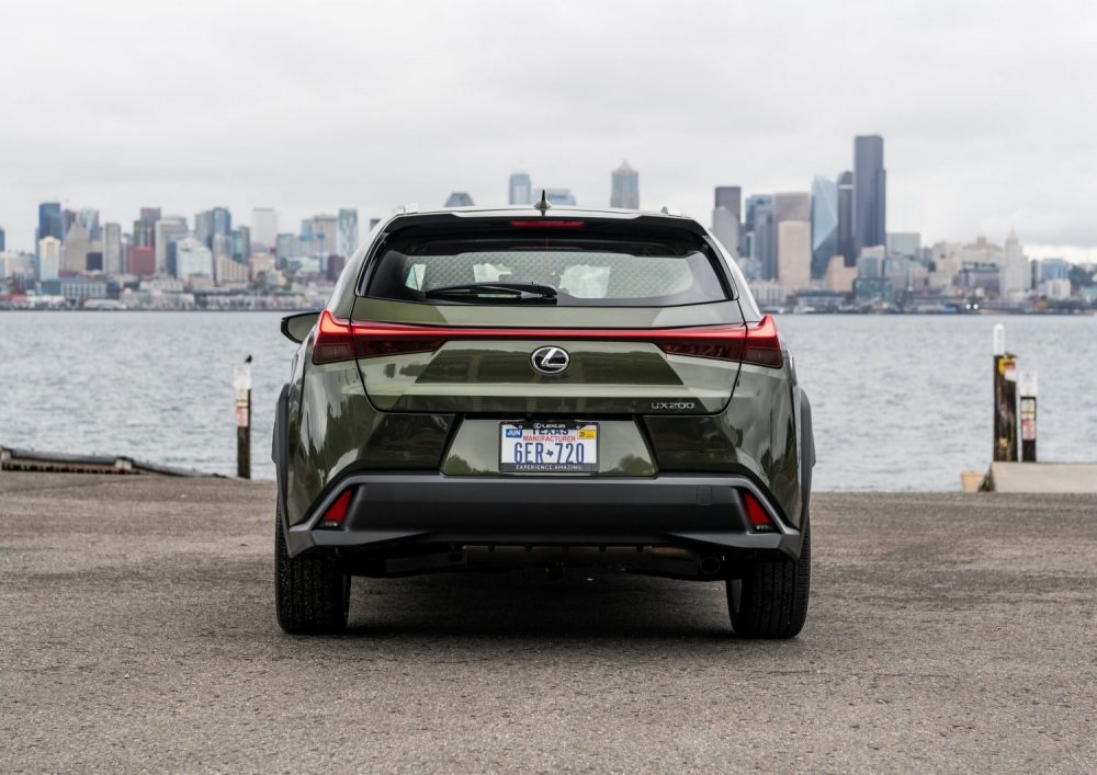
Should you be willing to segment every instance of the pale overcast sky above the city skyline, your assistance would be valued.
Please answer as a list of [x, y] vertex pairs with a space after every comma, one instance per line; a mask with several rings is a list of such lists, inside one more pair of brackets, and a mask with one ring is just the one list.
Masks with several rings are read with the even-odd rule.
[[[885, 138], [890, 231], [1097, 260], [1097, 3], [0, 1], [0, 226], [215, 204], [362, 224], [507, 178], [709, 223]], [[1060, 247], [1063, 246], [1063, 247]]]

